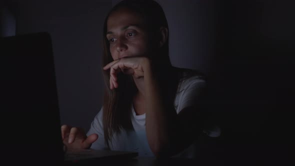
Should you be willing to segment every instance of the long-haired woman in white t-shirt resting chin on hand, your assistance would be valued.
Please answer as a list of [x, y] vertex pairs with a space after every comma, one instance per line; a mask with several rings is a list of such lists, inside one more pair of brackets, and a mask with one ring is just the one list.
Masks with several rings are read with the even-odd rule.
[[103, 28], [104, 102], [87, 134], [62, 125], [68, 148], [138, 151], [141, 156], [180, 153], [201, 133], [198, 99], [203, 77], [173, 67], [168, 24], [153, 0], [123, 0]]

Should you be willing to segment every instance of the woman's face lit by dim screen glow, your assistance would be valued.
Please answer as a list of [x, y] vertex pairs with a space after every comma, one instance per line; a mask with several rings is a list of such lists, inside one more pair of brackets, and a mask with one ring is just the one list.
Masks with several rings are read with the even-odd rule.
[[114, 60], [125, 56], [147, 56], [150, 45], [144, 23], [139, 14], [126, 8], [109, 15], [106, 38]]

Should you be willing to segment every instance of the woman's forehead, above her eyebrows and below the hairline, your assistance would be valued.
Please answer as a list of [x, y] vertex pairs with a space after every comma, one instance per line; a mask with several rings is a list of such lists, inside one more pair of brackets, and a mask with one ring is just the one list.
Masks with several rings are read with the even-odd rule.
[[137, 12], [131, 11], [127, 8], [120, 8], [116, 11], [113, 11], [107, 19], [107, 30], [113, 28], [120, 28], [126, 25], [137, 24], [140, 26], [144, 25], [144, 20], [140, 14]]

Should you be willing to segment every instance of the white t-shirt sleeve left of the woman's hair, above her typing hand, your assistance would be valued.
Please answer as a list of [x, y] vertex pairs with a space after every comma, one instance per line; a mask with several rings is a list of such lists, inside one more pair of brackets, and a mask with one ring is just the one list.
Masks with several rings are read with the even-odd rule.
[[103, 135], [103, 125], [102, 125], [102, 109], [96, 114], [93, 121], [91, 122], [90, 128], [86, 135], [90, 135], [92, 133], [96, 133], [98, 135], [98, 139], [94, 141], [90, 148], [96, 150], [106, 149], [106, 145], [104, 143], [104, 135]]

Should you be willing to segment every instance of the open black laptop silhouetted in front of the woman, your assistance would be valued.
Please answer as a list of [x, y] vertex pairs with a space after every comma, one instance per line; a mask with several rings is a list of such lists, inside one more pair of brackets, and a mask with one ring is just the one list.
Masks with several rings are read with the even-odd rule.
[[52, 165], [138, 155], [133, 151], [64, 152], [49, 33], [1, 37], [0, 58], [0, 146], [5, 161]]

